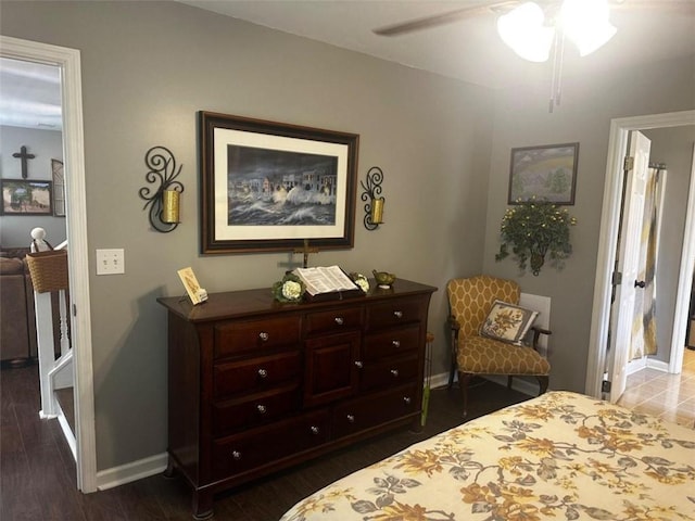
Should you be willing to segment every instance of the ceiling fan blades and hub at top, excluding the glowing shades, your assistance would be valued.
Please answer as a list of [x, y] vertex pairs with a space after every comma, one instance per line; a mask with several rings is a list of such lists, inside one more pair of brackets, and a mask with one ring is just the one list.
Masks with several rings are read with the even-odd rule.
[[[508, 13], [509, 11], [520, 7], [523, 3], [526, 3], [526, 0], [491, 1], [477, 5], [446, 11], [444, 13], [434, 14], [431, 16], [425, 16], [421, 18], [415, 18], [407, 22], [378, 27], [374, 29], [374, 33], [379, 36], [399, 36], [416, 30], [428, 29], [430, 27], [451, 24], [475, 16], [500, 16]], [[554, 14], [559, 10], [563, 2], [561, 0], [539, 0], [535, 3], [539, 4], [544, 11]], [[607, 3], [611, 10], [668, 9], [687, 13], [693, 12], [692, 0], [608, 0]]]

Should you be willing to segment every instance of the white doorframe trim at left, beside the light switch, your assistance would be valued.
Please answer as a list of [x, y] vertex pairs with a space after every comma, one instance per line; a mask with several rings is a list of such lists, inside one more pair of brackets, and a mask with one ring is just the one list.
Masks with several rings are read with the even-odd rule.
[[[75, 376], [77, 488], [97, 491], [97, 445], [87, 244], [87, 196], [80, 54], [76, 49], [0, 35], [0, 55], [61, 68], [71, 336]], [[38, 414], [38, 412], [37, 412]]]

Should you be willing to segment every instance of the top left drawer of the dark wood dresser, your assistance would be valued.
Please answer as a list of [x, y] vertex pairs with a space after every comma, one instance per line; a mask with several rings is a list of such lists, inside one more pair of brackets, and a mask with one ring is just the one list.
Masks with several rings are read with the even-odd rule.
[[299, 344], [301, 318], [265, 318], [220, 322], [215, 326], [215, 356], [228, 356], [257, 348], [273, 348]]

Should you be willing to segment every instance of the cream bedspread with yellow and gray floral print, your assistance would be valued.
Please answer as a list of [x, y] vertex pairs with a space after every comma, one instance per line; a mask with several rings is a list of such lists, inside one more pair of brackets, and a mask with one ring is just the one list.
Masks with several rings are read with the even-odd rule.
[[695, 431], [549, 392], [443, 432], [280, 521], [695, 520]]

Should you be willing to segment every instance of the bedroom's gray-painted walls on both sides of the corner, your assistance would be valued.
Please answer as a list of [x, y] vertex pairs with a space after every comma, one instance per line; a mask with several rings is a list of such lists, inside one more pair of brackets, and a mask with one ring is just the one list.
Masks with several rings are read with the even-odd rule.
[[[583, 391], [610, 119], [695, 107], [692, 59], [640, 71], [639, 84], [635, 71], [565, 78], [563, 105], [548, 114], [544, 81], [493, 98], [168, 2], [3, 1], [0, 24], [3, 35], [81, 51], [89, 247], [126, 251], [126, 275], [90, 277], [100, 470], [165, 449], [166, 320], [155, 298], [182, 293], [176, 270], [192, 266], [208, 291], [269, 287], [288, 258], [199, 255], [197, 111], [359, 134], [361, 179], [374, 165], [386, 174], [386, 225], [366, 231], [358, 202], [355, 247], [312, 263], [437, 285], [435, 373], [448, 364], [446, 281], [481, 270], [515, 278], [553, 298], [552, 387]], [[581, 142], [574, 255], [564, 271], [520, 277], [494, 262], [509, 149], [567, 141]], [[148, 229], [137, 195], [154, 144], [184, 165], [185, 220], [168, 234]]]

